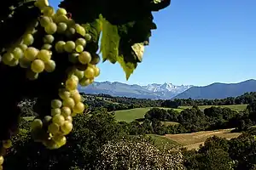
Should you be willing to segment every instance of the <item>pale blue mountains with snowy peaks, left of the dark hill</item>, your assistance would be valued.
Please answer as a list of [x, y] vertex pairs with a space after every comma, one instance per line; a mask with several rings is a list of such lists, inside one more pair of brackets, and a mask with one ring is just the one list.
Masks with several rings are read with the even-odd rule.
[[125, 96], [138, 99], [172, 99], [172, 97], [191, 88], [188, 86], [175, 86], [172, 83], [152, 83], [147, 86], [137, 84], [129, 85], [121, 82], [94, 82], [88, 87], [79, 87], [85, 94], [110, 94], [112, 96]]

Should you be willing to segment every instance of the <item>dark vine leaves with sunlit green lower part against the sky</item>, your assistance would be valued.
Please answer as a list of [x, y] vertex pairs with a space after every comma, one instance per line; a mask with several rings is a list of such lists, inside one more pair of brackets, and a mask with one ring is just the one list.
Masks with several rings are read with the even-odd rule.
[[[152, 11], [166, 8], [171, 0], [64, 0], [66, 8], [79, 23], [92, 23], [101, 15], [103, 61], [119, 62], [126, 79], [142, 62], [144, 46], [156, 29]], [[99, 37], [99, 34], [97, 35]]]

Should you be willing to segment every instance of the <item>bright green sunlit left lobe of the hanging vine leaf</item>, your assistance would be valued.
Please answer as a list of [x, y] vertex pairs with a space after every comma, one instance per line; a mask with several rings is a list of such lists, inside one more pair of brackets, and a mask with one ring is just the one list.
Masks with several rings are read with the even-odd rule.
[[117, 61], [119, 56], [119, 32], [118, 27], [110, 24], [108, 20], [101, 17], [102, 20], [102, 42], [101, 42], [101, 52], [102, 59], [106, 61], [107, 59], [111, 63]]

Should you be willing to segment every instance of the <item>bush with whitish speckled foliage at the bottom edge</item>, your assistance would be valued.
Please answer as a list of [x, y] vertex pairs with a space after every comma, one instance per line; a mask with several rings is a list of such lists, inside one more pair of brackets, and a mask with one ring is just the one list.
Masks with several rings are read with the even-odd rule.
[[161, 151], [143, 140], [103, 145], [96, 169], [183, 169], [180, 150]]

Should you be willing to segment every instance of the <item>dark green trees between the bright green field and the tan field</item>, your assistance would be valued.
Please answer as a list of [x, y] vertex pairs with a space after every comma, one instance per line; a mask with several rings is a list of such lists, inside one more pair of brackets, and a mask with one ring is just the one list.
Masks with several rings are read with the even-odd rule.
[[[246, 131], [256, 125], [256, 102], [247, 105], [245, 111], [212, 106], [201, 111], [198, 106], [181, 112], [173, 109], [152, 108], [143, 119], [119, 122], [131, 135], [156, 133], [195, 133], [206, 130], [235, 128], [234, 132]], [[163, 122], [177, 122], [166, 125]]]

